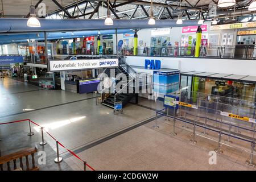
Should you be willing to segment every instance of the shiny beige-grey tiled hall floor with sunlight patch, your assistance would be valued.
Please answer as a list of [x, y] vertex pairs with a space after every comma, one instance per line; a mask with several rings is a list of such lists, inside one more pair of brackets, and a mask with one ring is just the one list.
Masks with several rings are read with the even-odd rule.
[[[109, 107], [96, 105], [93, 94], [80, 95], [61, 90], [45, 90], [9, 78], [0, 80], [0, 96], [0, 123], [30, 118], [46, 126], [49, 133], [67, 148], [80, 151], [77, 155], [96, 170], [254, 169], [245, 164], [245, 160], [249, 158], [248, 150], [225, 145], [222, 146], [224, 154], [217, 155], [217, 164], [210, 165], [208, 153], [217, 146], [216, 135], [213, 135], [212, 140], [196, 135], [197, 144], [190, 144], [191, 131], [177, 128], [178, 135], [171, 137], [172, 122], [165, 121], [165, 117], [158, 119], [160, 128], [157, 130], [152, 129], [154, 125], [152, 121], [98, 143], [94, 147], [81, 150], [90, 143], [154, 117], [155, 103], [151, 101], [140, 99], [139, 105], [127, 105], [123, 114], [113, 114], [113, 110]], [[158, 104], [158, 107], [161, 105]], [[179, 125], [178, 123], [177, 126], [181, 127]], [[35, 126], [32, 129], [38, 130]], [[15, 146], [19, 148], [27, 146], [25, 140], [19, 142], [13, 139], [14, 144], [11, 146], [14, 148], [6, 147], [7, 141], [26, 135], [27, 131], [27, 122], [1, 125], [0, 150], [7, 154], [13, 151]], [[55, 151], [55, 141], [46, 134], [45, 139], [52, 151]], [[32, 143], [36, 143], [36, 140], [40, 142], [39, 132], [36, 132]], [[62, 169], [84, 169], [81, 161], [67, 155], [61, 147], [60, 152], [61, 156], [64, 156], [65, 163], [70, 167], [64, 166]], [[54, 154], [50, 156], [53, 158]], [[61, 168], [55, 168], [55, 164], [51, 163], [48, 169]]]

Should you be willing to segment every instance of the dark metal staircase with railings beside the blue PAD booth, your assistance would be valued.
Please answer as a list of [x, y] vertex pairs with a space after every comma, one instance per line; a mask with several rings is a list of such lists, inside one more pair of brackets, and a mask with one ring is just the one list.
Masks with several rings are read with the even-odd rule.
[[[136, 103], [138, 102], [138, 94], [135, 93], [135, 86], [133, 86], [133, 88], [130, 88], [130, 90], [133, 90], [133, 92], [132, 93], [129, 92], [129, 84], [131, 82], [135, 82], [136, 72], [134, 71], [133, 68], [130, 67], [130, 65], [125, 63], [123, 57], [119, 56], [118, 59], [119, 59], [119, 67], [115, 68], [115, 78], [117, 78], [117, 75], [119, 73], [123, 73], [126, 75], [127, 81], [123, 83], [123, 88], [121, 87], [121, 90], [119, 90], [118, 93], [115, 92], [112, 94], [108, 94], [102, 100], [103, 105], [112, 107], [113, 109], [114, 109], [114, 102], [122, 102], [122, 107], [128, 104], [133, 98], [136, 98]], [[110, 69], [106, 70], [105, 73], [110, 77]], [[122, 80], [117, 80], [115, 84], [118, 84], [118, 82], [120, 81]], [[122, 93], [124, 89], [127, 89], [126, 93]]]

